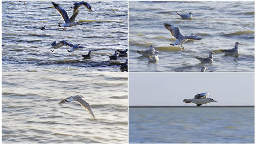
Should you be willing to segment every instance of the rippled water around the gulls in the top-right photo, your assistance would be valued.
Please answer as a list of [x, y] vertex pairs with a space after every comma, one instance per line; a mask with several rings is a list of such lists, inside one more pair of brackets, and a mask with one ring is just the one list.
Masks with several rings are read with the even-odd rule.
[[[179, 13], [192, 12], [192, 20]], [[180, 52], [164, 23], [180, 27], [183, 35], [192, 32], [202, 40], [183, 44]], [[239, 56], [224, 56], [221, 49], [240, 42]], [[148, 63], [137, 50], [155, 45], [161, 52], [158, 63]], [[214, 51], [214, 63], [201, 64], [194, 56], [208, 57]], [[254, 71], [254, 1], [130, 1], [129, 71]]]

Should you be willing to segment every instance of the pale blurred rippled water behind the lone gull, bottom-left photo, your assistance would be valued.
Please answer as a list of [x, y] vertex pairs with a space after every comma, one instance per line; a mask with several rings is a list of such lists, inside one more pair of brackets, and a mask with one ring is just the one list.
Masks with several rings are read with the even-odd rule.
[[[96, 120], [77, 102], [83, 95]], [[127, 143], [127, 74], [3, 73], [3, 143]]]

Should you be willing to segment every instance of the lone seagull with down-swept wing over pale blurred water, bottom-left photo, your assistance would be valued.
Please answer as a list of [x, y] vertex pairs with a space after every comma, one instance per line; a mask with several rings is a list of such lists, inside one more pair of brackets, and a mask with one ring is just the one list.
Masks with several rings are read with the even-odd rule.
[[77, 101], [77, 102], [79, 102], [80, 105], [81, 105], [85, 110], [87, 110], [87, 111], [91, 114], [91, 116], [95, 119], [95, 116], [94, 116], [93, 111], [92, 111], [92, 109], [91, 109], [91, 105], [90, 105], [88, 102], [84, 101], [82, 98], [84, 98], [84, 97], [81, 96], [81, 95], [70, 96], [70, 97], [68, 97], [68, 98], [66, 98], [66, 99], [63, 99], [59, 104], [62, 104], [62, 103], [65, 103], [65, 102]]

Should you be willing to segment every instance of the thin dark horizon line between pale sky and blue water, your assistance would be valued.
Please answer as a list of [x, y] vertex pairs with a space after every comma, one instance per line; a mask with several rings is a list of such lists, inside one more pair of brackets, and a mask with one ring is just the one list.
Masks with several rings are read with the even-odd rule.
[[[129, 108], [179, 108], [179, 107], [198, 107], [198, 106], [129, 106]], [[200, 106], [200, 107], [254, 107], [254, 106]]]

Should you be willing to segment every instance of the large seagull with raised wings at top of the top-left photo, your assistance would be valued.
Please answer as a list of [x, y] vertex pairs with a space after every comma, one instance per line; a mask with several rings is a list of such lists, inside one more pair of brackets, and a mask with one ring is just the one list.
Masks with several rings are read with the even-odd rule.
[[59, 5], [55, 4], [54, 2], [52, 2], [52, 4], [54, 5], [54, 7], [58, 10], [58, 12], [60, 13], [61, 17], [64, 20], [64, 24], [63, 25], [58, 25], [59, 27], [64, 27], [62, 31], [65, 31], [67, 27], [72, 27], [72, 26], [76, 26], [76, 25], [82, 25], [79, 22], [75, 22], [75, 17], [78, 14], [78, 9], [76, 11], [74, 11], [73, 15], [71, 16], [71, 18], [69, 18], [69, 15], [67, 14], [67, 12], [62, 9]]

